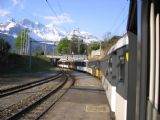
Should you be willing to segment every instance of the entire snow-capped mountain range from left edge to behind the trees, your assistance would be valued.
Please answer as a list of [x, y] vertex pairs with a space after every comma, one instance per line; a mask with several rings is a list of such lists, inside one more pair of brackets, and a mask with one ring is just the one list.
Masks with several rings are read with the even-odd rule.
[[13, 41], [17, 37], [17, 35], [26, 28], [30, 31], [29, 36], [37, 41], [48, 40], [57, 42], [64, 37], [68, 37], [69, 39], [71, 39], [73, 35], [76, 35], [80, 39], [83, 39], [83, 41], [86, 43], [97, 41], [97, 38], [95, 36], [87, 32], [80, 32], [79, 29], [66, 33], [53, 24], [43, 25], [41, 23], [33, 22], [28, 19], [24, 19], [22, 21], [11, 19], [5, 23], [0, 23], [0, 35], [2, 37], [10, 37], [12, 41], [10, 43], [11, 45], [13, 45]]

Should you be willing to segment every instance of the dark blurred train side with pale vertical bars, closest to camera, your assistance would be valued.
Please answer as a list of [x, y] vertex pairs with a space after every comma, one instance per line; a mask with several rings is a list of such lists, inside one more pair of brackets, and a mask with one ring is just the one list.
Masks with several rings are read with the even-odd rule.
[[127, 120], [160, 120], [160, 0], [130, 0]]

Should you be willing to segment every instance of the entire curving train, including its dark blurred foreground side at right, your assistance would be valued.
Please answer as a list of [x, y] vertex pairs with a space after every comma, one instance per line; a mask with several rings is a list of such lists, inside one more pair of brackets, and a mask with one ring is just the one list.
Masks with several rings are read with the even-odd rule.
[[127, 33], [97, 61], [59, 66], [102, 82], [116, 120], [160, 120], [160, 0], [130, 0]]

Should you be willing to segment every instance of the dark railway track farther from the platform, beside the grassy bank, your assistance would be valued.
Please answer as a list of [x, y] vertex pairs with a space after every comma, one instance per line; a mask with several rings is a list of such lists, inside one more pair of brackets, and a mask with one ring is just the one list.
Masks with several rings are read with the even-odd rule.
[[26, 84], [18, 85], [15, 87], [0, 90], [0, 98], [8, 96], [8, 95], [16, 93], [16, 92], [20, 92], [20, 91], [38, 86], [38, 85], [41, 85], [41, 84], [44, 84], [44, 83], [47, 83], [47, 82], [50, 82], [52, 80], [55, 80], [55, 79], [61, 77], [62, 75], [63, 75], [62, 72], [59, 72], [54, 76], [50, 76], [50, 77], [47, 77], [47, 78], [44, 78], [44, 79], [41, 79], [38, 81], [34, 81], [34, 82], [30, 82], [30, 83], [26, 83]]

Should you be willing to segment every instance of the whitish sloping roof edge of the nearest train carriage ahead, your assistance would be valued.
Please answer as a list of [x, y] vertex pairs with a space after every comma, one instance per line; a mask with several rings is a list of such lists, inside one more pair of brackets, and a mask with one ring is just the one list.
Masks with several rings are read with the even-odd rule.
[[114, 52], [115, 50], [128, 45], [129, 39], [128, 34], [125, 34], [122, 38], [120, 38], [108, 51], [107, 54]]

